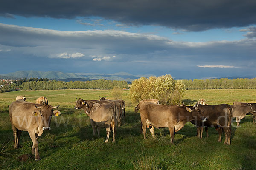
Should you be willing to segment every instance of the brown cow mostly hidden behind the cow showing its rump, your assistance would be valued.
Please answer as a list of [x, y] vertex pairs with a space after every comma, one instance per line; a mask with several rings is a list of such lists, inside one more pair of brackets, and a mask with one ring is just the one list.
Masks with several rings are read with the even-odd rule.
[[[99, 100], [100, 101], [107, 101], [107, 102], [111, 102], [112, 104], [116, 105], [116, 107], [121, 107], [121, 110], [119, 110], [119, 112], [117, 112], [117, 121], [118, 121], [118, 126], [121, 126], [121, 120], [124, 119], [125, 117], [125, 101], [123, 100], [108, 100], [106, 97], [100, 97], [99, 96]], [[99, 103], [99, 102], [98, 102]]]

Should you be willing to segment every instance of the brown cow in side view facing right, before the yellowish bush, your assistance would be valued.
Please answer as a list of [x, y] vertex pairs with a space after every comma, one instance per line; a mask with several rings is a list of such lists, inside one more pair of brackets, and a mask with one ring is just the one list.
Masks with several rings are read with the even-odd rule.
[[[146, 127], [155, 128], [168, 127], [170, 130], [171, 142], [173, 142], [175, 132], [184, 127], [186, 122], [191, 120], [206, 121], [207, 117], [195, 108], [188, 108], [178, 105], [159, 105], [151, 102], [144, 102], [140, 105], [140, 118], [144, 139], [146, 139]], [[154, 135], [152, 134], [153, 138]]]

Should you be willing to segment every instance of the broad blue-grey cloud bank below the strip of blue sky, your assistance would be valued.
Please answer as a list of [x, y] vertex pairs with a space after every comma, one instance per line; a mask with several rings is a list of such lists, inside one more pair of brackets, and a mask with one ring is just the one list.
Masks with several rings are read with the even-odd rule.
[[[12, 61], [13, 68], [98, 72], [126, 71], [133, 74], [172, 74], [174, 77], [224, 77], [223, 74], [252, 74], [256, 68], [256, 40], [177, 42], [168, 38], [114, 30], [58, 31], [0, 23], [1, 62]], [[116, 56], [116, 57], [115, 57]], [[230, 66], [240, 69], [215, 69], [199, 66]], [[224, 67], [225, 68], [225, 67]], [[227, 68], [227, 67], [226, 67]], [[3, 70], [10, 70], [3, 66]], [[225, 70], [225, 71], [223, 71]], [[13, 71], [13, 70], [12, 70]], [[45, 71], [45, 70], [44, 70]], [[175, 75], [176, 73], [176, 75]], [[188, 74], [189, 73], [189, 74]], [[218, 73], [218, 74], [217, 74]], [[234, 75], [236, 76], [236, 75]]]

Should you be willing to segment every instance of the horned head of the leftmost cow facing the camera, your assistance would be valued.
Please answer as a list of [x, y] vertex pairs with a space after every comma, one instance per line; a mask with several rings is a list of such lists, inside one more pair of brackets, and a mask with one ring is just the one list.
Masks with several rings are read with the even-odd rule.
[[51, 106], [51, 105], [42, 105], [37, 106], [35, 105], [36, 109], [32, 112], [33, 115], [38, 116], [38, 120], [40, 122], [39, 127], [42, 127], [42, 130], [50, 130], [50, 122], [52, 119], [52, 115], [59, 116], [61, 114], [60, 111], [53, 109], [58, 108], [58, 106]]

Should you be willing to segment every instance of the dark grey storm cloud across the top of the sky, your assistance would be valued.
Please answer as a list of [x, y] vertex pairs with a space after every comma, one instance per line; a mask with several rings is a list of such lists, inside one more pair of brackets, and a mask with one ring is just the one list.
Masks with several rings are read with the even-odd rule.
[[187, 31], [256, 24], [255, 0], [5, 0], [0, 15], [102, 17], [126, 25]]

